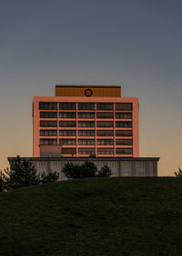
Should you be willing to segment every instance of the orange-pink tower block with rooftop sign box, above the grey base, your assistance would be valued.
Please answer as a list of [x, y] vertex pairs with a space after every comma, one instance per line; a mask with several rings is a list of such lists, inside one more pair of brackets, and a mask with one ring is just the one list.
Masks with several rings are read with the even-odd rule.
[[120, 86], [57, 85], [56, 96], [34, 97], [33, 156], [139, 157], [138, 99]]

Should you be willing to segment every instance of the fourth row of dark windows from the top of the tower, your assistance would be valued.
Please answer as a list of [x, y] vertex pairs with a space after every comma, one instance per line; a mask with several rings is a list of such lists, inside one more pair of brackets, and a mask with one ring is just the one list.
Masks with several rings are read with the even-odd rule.
[[[114, 136], [113, 130], [97, 130], [97, 136]], [[57, 136], [56, 130], [40, 130], [40, 136]], [[59, 136], [76, 136], [76, 130], [60, 130]], [[95, 130], [78, 130], [78, 136], [95, 136]], [[132, 130], [116, 130], [116, 136], [132, 136]]]

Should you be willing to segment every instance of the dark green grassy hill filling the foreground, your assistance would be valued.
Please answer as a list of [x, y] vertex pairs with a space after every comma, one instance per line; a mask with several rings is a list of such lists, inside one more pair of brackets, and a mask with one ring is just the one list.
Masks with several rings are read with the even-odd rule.
[[0, 194], [0, 255], [182, 255], [182, 179], [89, 178]]

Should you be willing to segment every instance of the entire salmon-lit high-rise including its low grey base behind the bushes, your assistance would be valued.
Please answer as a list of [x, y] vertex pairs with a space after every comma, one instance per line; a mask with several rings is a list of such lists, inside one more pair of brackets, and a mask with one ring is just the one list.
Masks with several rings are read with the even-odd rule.
[[[37, 173], [66, 179], [67, 162], [108, 165], [113, 176], [157, 176], [158, 157], [139, 157], [138, 99], [120, 86], [56, 85], [56, 96], [35, 96], [33, 157]], [[8, 158], [9, 162], [14, 157]]]

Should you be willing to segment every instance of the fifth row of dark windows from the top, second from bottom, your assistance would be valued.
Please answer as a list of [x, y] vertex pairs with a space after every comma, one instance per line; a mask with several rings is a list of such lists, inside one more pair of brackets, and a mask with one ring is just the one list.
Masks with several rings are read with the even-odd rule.
[[[78, 139], [78, 144], [86, 144], [86, 145], [113, 145], [113, 139]], [[56, 139], [40, 139], [40, 144], [57, 144]], [[76, 139], [60, 139], [59, 144], [73, 144], [76, 145]], [[132, 145], [132, 139], [116, 139], [116, 145]]]

